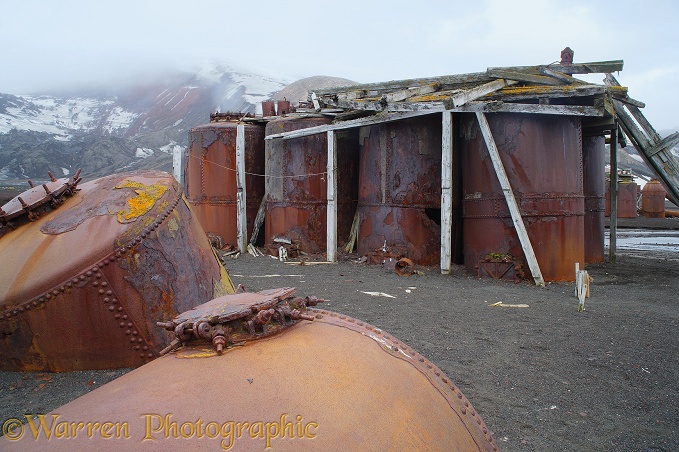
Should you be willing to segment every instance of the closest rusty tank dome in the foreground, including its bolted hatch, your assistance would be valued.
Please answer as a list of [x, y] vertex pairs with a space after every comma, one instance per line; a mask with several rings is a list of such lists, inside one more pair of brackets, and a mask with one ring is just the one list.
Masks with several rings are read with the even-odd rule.
[[[379, 328], [312, 307], [321, 301], [282, 288], [198, 306], [163, 324], [184, 347], [42, 417], [47, 431], [75, 425], [70, 437], [15, 426], [0, 447], [497, 450], [439, 368]], [[211, 329], [221, 352], [198, 339]], [[78, 422], [99, 424], [88, 434]]]

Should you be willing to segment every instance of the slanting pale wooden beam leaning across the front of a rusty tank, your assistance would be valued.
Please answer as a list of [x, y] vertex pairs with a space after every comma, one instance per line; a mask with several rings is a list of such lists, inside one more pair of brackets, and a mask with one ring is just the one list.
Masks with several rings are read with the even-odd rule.
[[540, 271], [540, 266], [538, 265], [538, 260], [535, 257], [535, 252], [533, 251], [533, 246], [530, 243], [530, 238], [528, 237], [528, 232], [526, 231], [526, 225], [523, 223], [523, 218], [521, 217], [521, 212], [519, 211], [519, 206], [514, 197], [514, 192], [509, 184], [509, 178], [507, 178], [507, 173], [505, 172], [505, 167], [502, 164], [502, 159], [500, 158], [500, 152], [495, 145], [495, 140], [493, 139], [493, 133], [488, 125], [488, 120], [484, 113], [476, 113], [476, 118], [479, 121], [479, 126], [481, 128], [481, 133], [486, 141], [486, 147], [488, 148], [488, 154], [493, 162], [493, 167], [495, 168], [495, 174], [500, 181], [500, 186], [502, 187], [502, 192], [505, 195], [505, 200], [507, 201], [507, 207], [509, 207], [509, 213], [512, 216], [512, 221], [514, 222], [514, 228], [516, 229], [516, 234], [519, 236], [519, 241], [521, 242], [521, 247], [523, 248], [523, 254], [526, 256], [526, 261], [528, 263], [528, 268], [533, 275], [533, 280], [537, 286], [545, 286], [545, 281], [542, 278], [542, 272]]

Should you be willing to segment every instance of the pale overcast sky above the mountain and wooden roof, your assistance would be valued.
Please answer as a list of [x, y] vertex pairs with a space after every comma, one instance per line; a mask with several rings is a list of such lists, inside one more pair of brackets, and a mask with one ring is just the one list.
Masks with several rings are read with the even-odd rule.
[[[679, 126], [678, 0], [0, 0], [0, 92], [226, 62], [357, 82], [624, 60], [656, 129]], [[588, 81], [602, 83], [603, 76]]]

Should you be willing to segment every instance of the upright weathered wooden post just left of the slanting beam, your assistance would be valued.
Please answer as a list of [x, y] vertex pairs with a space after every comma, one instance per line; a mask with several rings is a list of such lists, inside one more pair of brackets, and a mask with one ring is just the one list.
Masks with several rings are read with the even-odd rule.
[[453, 226], [453, 113], [443, 112], [441, 136], [441, 273], [451, 270]]

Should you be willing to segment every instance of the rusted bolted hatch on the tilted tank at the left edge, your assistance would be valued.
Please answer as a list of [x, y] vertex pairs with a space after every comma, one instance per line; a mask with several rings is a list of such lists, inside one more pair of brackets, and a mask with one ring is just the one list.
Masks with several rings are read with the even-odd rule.
[[[36, 221], [43, 211], [56, 209], [64, 202], [65, 196], [72, 196], [82, 180], [80, 170], [72, 178], [57, 179], [51, 172], [47, 172], [50, 181], [36, 186], [28, 181], [31, 188], [9, 200], [0, 207], [0, 237], [7, 230], [19, 226], [20, 223]], [[16, 219], [10, 223], [10, 220]]]

